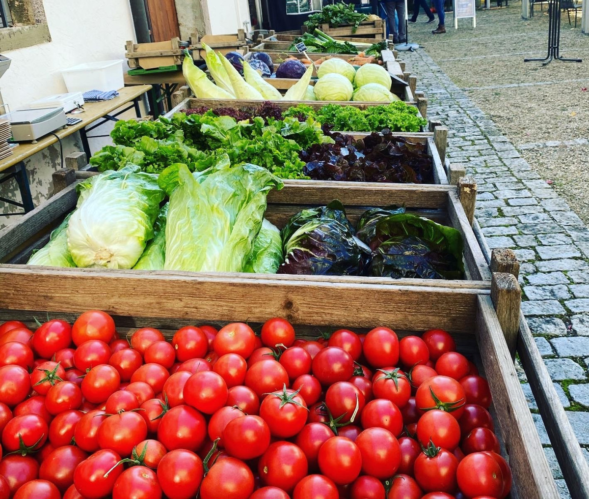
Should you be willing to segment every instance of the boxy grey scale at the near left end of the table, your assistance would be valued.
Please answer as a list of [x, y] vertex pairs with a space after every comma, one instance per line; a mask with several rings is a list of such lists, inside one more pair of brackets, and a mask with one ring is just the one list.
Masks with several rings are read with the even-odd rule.
[[[64, 109], [22, 109], [11, 111], [5, 115], [8, 118], [14, 142], [37, 142], [37, 139], [65, 127]], [[0, 119], [2, 116], [0, 116]]]

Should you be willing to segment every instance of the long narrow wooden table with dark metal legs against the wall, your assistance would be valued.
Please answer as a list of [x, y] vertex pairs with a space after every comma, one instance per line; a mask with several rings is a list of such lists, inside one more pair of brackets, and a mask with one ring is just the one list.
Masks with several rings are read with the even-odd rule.
[[[12, 155], [0, 160], [0, 174], [4, 173], [4, 176], [0, 178], [0, 184], [10, 179], [14, 179], [18, 183], [18, 188], [21, 192], [22, 202], [19, 203], [12, 199], [6, 199], [2, 197], [0, 197], [0, 201], [4, 201], [11, 205], [19, 206], [20, 208], [24, 209], [25, 213], [31, 211], [34, 208], [34, 206], [31, 197], [31, 189], [29, 187], [29, 182], [27, 178], [27, 172], [25, 170], [25, 159], [40, 152], [41, 150], [45, 149], [45, 147], [55, 144], [56, 142], [58, 142], [58, 137], [59, 139], [64, 139], [65, 137], [68, 137], [75, 132], [80, 132], [82, 147], [84, 148], [86, 156], [90, 158], [90, 147], [88, 146], [87, 132], [96, 128], [97, 126], [100, 126], [101, 124], [107, 121], [118, 121], [117, 116], [119, 114], [124, 113], [125, 111], [128, 111], [133, 107], [135, 108], [135, 113], [137, 114], [137, 117], [140, 117], [141, 111], [139, 108], [139, 99], [144, 93], [150, 90], [151, 85], [139, 85], [121, 88], [118, 91], [118, 97], [115, 97], [111, 100], [85, 103], [84, 113], [70, 115], [72, 117], [80, 118], [82, 120], [81, 123], [68, 126], [63, 129], [55, 130], [55, 136], [45, 135], [36, 143], [22, 142], [19, 143], [18, 146], [13, 147]], [[130, 105], [126, 106], [123, 110], [118, 111], [117, 113], [112, 113], [112, 111], [118, 109], [119, 107], [125, 106], [125, 104]], [[99, 123], [92, 124], [97, 120], [101, 121]], [[0, 216], [21, 214], [22, 212], [0, 213]]]

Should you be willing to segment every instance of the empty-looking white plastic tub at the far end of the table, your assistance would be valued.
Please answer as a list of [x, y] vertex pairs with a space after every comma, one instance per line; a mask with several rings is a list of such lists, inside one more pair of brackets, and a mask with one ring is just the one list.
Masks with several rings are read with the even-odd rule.
[[125, 86], [122, 59], [78, 64], [61, 70], [68, 92], [118, 90]]

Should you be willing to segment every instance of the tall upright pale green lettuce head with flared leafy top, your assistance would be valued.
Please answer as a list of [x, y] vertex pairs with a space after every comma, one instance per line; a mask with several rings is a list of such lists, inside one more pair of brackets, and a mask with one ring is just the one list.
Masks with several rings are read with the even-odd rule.
[[240, 272], [262, 227], [266, 195], [282, 188], [267, 169], [227, 156], [192, 175], [172, 165], [160, 175], [170, 196], [166, 225], [166, 270]]

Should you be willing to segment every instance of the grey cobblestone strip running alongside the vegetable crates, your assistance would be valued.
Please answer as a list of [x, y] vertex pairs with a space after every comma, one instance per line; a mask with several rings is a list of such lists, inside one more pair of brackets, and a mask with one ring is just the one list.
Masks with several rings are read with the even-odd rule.
[[[521, 262], [522, 310], [589, 460], [589, 230], [423, 49], [400, 58], [418, 75], [428, 118], [449, 128], [449, 160], [477, 180], [476, 216], [489, 247], [512, 248]], [[554, 478], [570, 497], [520, 372]]]

